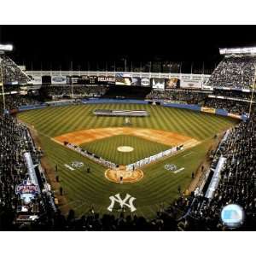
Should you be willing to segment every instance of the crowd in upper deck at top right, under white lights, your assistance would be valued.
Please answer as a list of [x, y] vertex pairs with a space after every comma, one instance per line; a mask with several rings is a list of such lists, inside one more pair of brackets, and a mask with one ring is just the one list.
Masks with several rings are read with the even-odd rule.
[[213, 71], [207, 85], [251, 89], [254, 80], [256, 58], [252, 55], [227, 55]]

